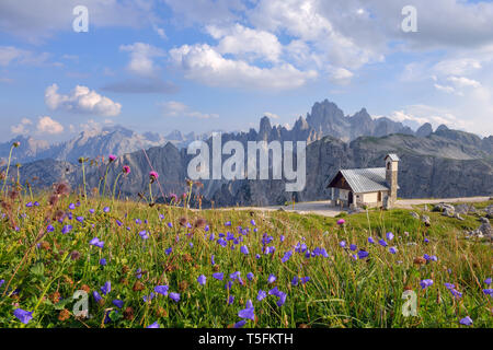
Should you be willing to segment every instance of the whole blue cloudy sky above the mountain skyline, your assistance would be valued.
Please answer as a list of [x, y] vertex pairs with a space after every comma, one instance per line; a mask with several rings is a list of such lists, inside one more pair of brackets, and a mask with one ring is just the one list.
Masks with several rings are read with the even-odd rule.
[[0, 1], [0, 141], [293, 126], [325, 98], [492, 135], [493, 2]]

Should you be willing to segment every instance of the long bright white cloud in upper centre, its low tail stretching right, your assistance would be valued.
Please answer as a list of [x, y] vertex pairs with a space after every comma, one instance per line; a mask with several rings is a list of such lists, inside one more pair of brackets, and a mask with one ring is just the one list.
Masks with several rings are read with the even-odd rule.
[[242, 60], [227, 59], [207, 44], [183, 45], [172, 49], [170, 56], [186, 79], [210, 86], [288, 90], [302, 86], [317, 77], [316, 71], [303, 72], [289, 63], [260, 68]]

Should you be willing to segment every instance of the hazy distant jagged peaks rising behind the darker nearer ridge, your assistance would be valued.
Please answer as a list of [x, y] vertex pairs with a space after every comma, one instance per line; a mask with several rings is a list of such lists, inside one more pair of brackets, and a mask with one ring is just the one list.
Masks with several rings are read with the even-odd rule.
[[[442, 135], [448, 132], [448, 128], [440, 126], [437, 130]], [[455, 132], [455, 131], [454, 131]], [[473, 145], [485, 152], [492, 150], [493, 136], [481, 139], [468, 132], [455, 132], [445, 136], [457, 138], [469, 145]], [[307, 141], [311, 143], [323, 137], [330, 136], [345, 142], [351, 142], [359, 137], [385, 137], [392, 133], [413, 135], [425, 138], [433, 133], [429, 124], [424, 124], [416, 131], [402, 122], [393, 121], [387, 117], [371, 118], [366, 108], [362, 108], [353, 116], [345, 116], [343, 110], [333, 102], [324, 100], [317, 102], [306, 117], [299, 117], [291, 129], [282, 126], [272, 126], [268, 117], [260, 121], [259, 131], [251, 128], [243, 132], [225, 132], [227, 139], [236, 140], [280, 140], [280, 141]], [[211, 132], [195, 135], [182, 133], [180, 130], [170, 131], [162, 136], [157, 132], [138, 133], [122, 126], [105, 127], [101, 130], [85, 130], [71, 140], [49, 144], [47, 141], [36, 140], [32, 137], [19, 136], [9, 142], [0, 143], [0, 158], [7, 159], [12, 142], [20, 141], [21, 148], [16, 149], [13, 156], [15, 162], [26, 163], [42, 159], [54, 159], [77, 163], [80, 156], [98, 158], [107, 154], [125, 154], [151, 147], [164, 145], [171, 142], [179, 149], [187, 147], [194, 140], [205, 140]]]

